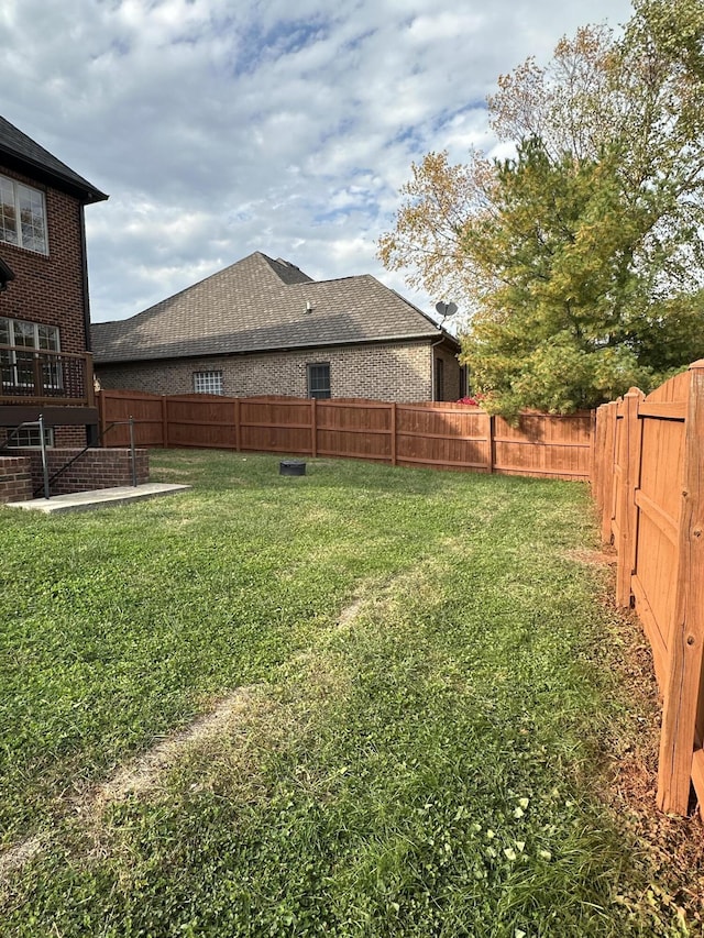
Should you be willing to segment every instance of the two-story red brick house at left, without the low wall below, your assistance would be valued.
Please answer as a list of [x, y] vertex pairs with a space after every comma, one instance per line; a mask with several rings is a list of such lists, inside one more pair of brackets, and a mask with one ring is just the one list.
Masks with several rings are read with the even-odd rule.
[[0, 443], [57, 445], [97, 424], [84, 207], [108, 197], [0, 118]]

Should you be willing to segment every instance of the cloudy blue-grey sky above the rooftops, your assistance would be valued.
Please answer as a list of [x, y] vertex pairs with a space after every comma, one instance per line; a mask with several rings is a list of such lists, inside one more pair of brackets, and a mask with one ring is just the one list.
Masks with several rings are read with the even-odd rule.
[[626, 0], [1, 0], [0, 113], [110, 195], [92, 319], [252, 251], [316, 279], [384, 271], [411, 162], [491, 150], [486, 95]]

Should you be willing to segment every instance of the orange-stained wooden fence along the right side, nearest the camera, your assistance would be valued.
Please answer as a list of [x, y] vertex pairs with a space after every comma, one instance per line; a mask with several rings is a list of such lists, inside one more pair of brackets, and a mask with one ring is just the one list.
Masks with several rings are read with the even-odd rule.
[[704, 361], [600, 407], [594, 453], [616, 599], [644, 625], [663, 700], [658, 805], [686, 814], [691, 782], [704, 804]]

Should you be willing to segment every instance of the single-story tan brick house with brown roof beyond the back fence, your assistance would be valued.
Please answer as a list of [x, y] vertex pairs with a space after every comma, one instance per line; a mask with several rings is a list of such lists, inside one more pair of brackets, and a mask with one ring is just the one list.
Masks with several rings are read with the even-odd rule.
[[458, 341], [374, 277], [312, 280], [256, 252], [131, 319], [91, 327], [103, 388], [455, 400]]

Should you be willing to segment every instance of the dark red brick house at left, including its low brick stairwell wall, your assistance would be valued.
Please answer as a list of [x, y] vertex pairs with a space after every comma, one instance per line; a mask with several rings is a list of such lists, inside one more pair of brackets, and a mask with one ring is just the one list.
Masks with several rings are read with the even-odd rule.
[[[0, 118], [0, 503], [47, 477], [52, 495], [132, 478], [129, 451], [84, 452], [98, 427], [84, 209], [107, 198]], [[135, 463], [145, 482], [146, 454]]]

